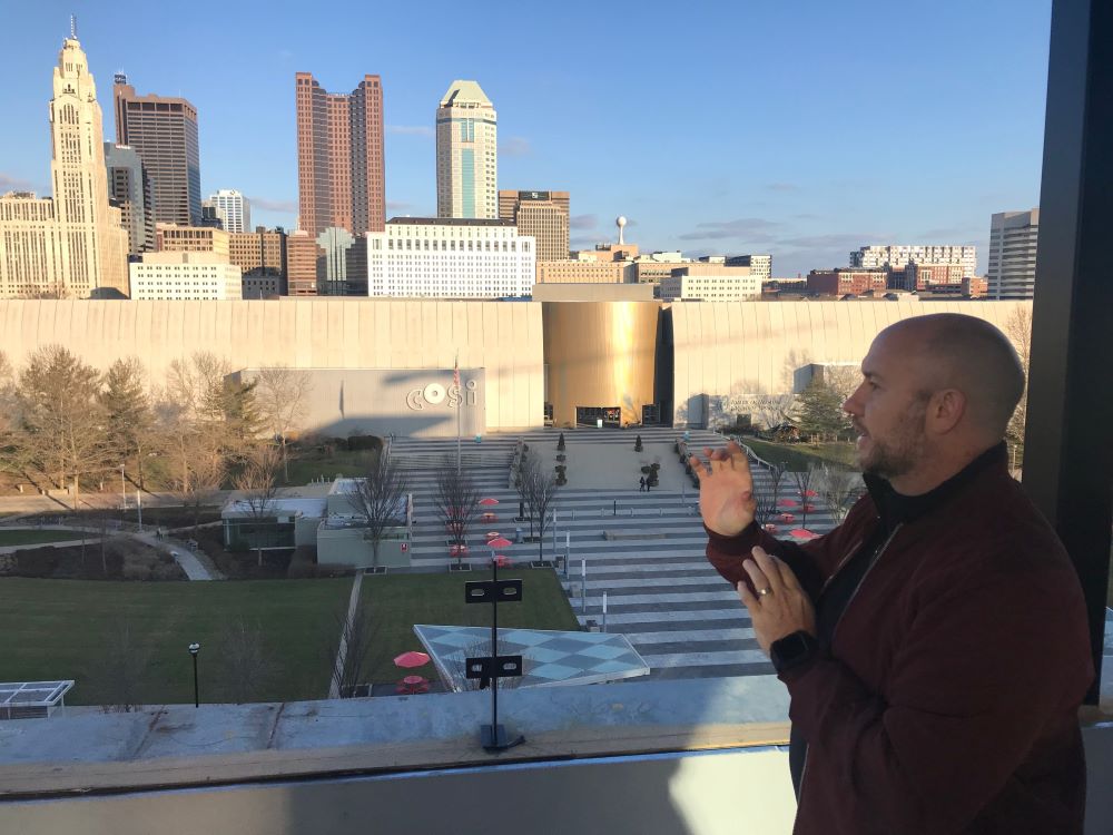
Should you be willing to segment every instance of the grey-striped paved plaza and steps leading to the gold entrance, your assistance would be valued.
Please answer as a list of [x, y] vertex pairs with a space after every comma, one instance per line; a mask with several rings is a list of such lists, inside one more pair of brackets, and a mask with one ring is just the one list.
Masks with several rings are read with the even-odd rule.
[[[471, 464], [483, 494], [501, 502], [493, 509], [499, 521], [477, 525], [472, 537], [471, 561], [476, 567], [489, 557], [482, 544], [486, 530], [498, 530], [514, 540], [519, 527], [512, 521], [518, 512], [518, 495], [508, 487], [508, 468], [518, 438], [549, 460], [555, 454], [559, 434], [558, 430], [545, 430], [489, 436], [482, 450], [475, 449], [473, 442], [464, 443], [464, 452], [473, 456], [465, 464]], [[646, 446], [642, 453], [633, 452], [637, 434], [641, 434]], [[564, 431], [570, 483], [555, 502], [558, 551], [564, 552], [565, 541], [571, 550], [567, 579], [561, 572], [564, 589], [581, 625], [602, 621], [602, 595], [607, 592], [608, 631], [621, 631], [630, 639], [649, 662], [652, 678], [769, 675], [772, 667], [754, 639], [745, 608], [707, 562], [707, 534], [697, 508], [699, 493], [686, 480], [672, 446], [682, 435], [682, 430], [674, 429]], [[721, 435], [691, 432], [693, 449], [725, 444]], [[412, 468], [420, 520], [413, 564], [446, 566], [450, 558], [444, 530], [432, 494], [435, 468], [446, 454], [455, 460], [455, 441], [397, 439], [393, 454]], [[638, 490], [637, 475], [647, 454], [660, 458], [662, 489], [643, 493]], [[579, 462], [575, 468], [573, 462]], [[580, 485], [578, 473], [583, 473]], [[767, 473], [758, 468], [755, 478], [759, 487], [768, 482]], [[607, 483], [612, 487], [603, 487]], [[790, 479], [782, 482], [780, 494], [796, 497]], [[807, 527], [826, 531], [831, 527], [830, 517], [826, 511], [809, 513]], [[604, 534], [617, 538], [607, 539]], [[545, 540], [544, 557], [551, 559], [553, 539], [549, 530]], [[513, 544], [502, 552], [515, 562], [525, 562], [536, 559], [538, 546]], [[585, 600], [581, 597], [581, 566], [587, 569]]]

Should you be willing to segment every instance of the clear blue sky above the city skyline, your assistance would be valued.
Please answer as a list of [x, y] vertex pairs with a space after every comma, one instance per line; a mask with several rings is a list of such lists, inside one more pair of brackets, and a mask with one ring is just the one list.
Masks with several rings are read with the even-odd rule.
[[433, 115], [455, 78], [499, 112], [499, 186], [564, 189], [573, 247], [771, 252], [973, 243], [1038, 203], [1050, 0], [112, 3], [0, 0], [0, 190], [49, 194], [69, 14], [114, 136], [112, 73], [197, 106], [201, 189], [293, 226], [294, 73], [383, 77], [388, 215], [435, 212]]

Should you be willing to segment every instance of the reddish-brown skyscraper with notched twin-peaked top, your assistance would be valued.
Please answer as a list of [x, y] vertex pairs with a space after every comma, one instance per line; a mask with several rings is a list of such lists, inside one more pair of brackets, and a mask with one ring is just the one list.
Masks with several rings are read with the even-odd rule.
[[351, 94], [324, 90], [309, 72], [295, 77], [301, 227], [316, 238], [329, 227], [356, 235], [386, 223], [383, 86], [364, 76]]

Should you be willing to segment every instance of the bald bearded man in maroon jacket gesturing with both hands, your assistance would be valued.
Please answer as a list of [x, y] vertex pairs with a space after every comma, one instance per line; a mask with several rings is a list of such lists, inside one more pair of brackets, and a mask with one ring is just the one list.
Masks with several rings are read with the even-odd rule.
[[760, 530], [735, 444], [696, 468], [708, 559], [791, 697], [796, 832], [1081, 833], [1085, 607], [1006, 469], [1016, 353], [982, 320], [918, 316], [861, 373], [843, 407], [868, 493], [830, 533]]

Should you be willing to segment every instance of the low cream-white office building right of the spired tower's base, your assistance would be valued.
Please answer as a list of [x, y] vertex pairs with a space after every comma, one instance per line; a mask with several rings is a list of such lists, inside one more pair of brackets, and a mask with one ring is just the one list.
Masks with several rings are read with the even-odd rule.
[[129, 265], [131, 298], [152, 301], [239, 301], [243, 272], [217, 253], [145, 253]]

